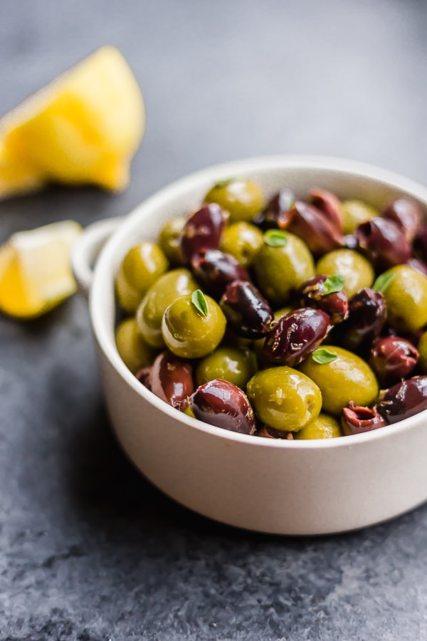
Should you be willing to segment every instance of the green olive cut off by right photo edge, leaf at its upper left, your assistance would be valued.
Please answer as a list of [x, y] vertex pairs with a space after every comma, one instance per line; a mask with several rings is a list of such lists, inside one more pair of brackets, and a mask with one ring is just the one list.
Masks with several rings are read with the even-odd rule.
[[408, 265], [384, 272], [391, 276], [383, 289], [387, 320], [399, 332], [415, 332], [427, 323], [427, 277]]

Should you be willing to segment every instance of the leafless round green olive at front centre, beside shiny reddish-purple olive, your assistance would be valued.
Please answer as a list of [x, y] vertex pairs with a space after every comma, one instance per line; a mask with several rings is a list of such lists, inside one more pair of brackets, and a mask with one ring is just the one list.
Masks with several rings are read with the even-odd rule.
[[246, 393], [263, 423], [288, 432], [305, 427], [322, 408], [315, 382], [287, 367], [260, 370], [248, 382]]

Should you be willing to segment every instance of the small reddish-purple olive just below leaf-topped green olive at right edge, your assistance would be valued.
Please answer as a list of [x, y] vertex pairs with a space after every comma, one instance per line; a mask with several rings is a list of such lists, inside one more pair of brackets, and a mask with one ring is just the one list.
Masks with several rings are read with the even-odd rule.
[[391, 385], [411, 374], [418, 361], [418, 351], [406, 338], [376, 338], [371, 345], [369, 365], [381, 385]]

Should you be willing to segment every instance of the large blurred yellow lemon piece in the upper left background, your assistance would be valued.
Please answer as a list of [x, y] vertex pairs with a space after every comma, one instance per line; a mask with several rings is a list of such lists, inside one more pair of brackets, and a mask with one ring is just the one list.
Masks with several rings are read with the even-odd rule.
[[0, 198], [49, 182], [121, 191], [144, 129], [135, 76], [101, 47], [0, 119]]

